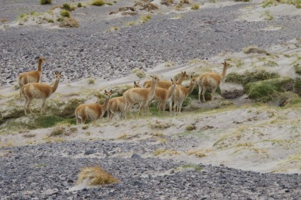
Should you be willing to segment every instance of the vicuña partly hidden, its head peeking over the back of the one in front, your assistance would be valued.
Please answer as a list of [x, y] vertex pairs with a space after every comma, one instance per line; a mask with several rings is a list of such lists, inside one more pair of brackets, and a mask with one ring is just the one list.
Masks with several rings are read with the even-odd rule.
[[[140, 88], [139, 85], [140, 82], [134, 81], [134, 88]], [[114, 117], [115, 112], [120, 111], [120, 119], [123, 118], [123, 115], [125, 113], [125, 99], [123, 96], [112, 98], [108, 102], [108, 120], [112, 119]]]

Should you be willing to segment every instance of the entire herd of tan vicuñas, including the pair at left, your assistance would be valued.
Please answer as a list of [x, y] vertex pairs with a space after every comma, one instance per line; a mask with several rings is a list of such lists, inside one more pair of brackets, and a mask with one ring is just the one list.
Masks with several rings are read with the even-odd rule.
[[[47, 98], [55, 93], [57, 86], [59, 85], [59, 79], [61, 73], [55, 72], [55, 83], [50, 86], [45, 83], [39, 83], [42, 73], [42, 63], [45, 61], [44, 57], [36, 57], [38, 60], [38, 70], [23, 72], [18, 76], [18, 85], [20, 86], [20, 100], [24, 98], [24, 112], [27, 115], [27, 110], [31, 114], [30, 103], [35, 99], [42, 99], [42, 106], [40, 113], [45, 114], [45, 102]], [[75, 117], [76, 124], [84, 124], [86, 119], [96, 120], [103, 117], [103, 114], [108, 110], [108, 120], [111, 120], [116, 112], [120, 112], [120, 118], [126, 118], [127, 112], [130, 112], [132, 106], [139, 103], [138, 114], [149, 112], [149, 105], [152, 101], [158, 102], [159, 112], [162, 110], [165, 114], [166, 103], [169, 104], [169, 111], [174, 111], [180, 114], [184, 100], [193, 91], [195, 83], [198, 83], [198, 101], [200, 102], [200, 95], [202, 94], [203, 102], [205, 102], [205, 91], [209, 90], [211, 93], [211, 100], [213, 99], [213, 93], [220, 86], [221, 81], [225, 78], [227, 68], [229, 64], [226, 61], [222, 63], [224, 68], [222, 73], [205, 72], [198, 77], [188, 76], [186, 71], [181, 72], [181, 76], [178, 80], [174, 81], [160, 81], [158, 76], [151, 76], [152, 79], [144, 81], [144, 88], [140, 88], [140, 82], [134, 81], [134, 88], [130, 88], [123, 93], [121, 97], [115, 97], [110, 99], [112, 90], [105, 90], [106, 101], [103, 105], [98, 103], [82, 104], [76, 107]], [[182, 86], [182, 82], [185, 79], [190, 78], [189, 87]]]

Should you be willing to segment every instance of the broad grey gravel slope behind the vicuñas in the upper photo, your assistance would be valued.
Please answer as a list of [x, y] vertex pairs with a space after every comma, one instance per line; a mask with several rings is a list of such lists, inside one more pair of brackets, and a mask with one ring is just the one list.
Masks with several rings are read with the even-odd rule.
[[[36, 69], [36, 56], [47, 59], [44, 82], [52, 80], [55, 70], [64, 72], [64, 83], [88, 77], [112, 80], [127, 76], [135, 68], [152, 69], [166, 61], [183, 64], [220, 52], [239, 52], [249, 45], [270, 47], [300, 36], [301, 21], [296, 16], [261, 22], [237, 20], [239, 9], [246, 5], [251, 4], [154, 15], [147, 23], [130, 27], [126, 22], [138, 16], [96, 20], [97, 8], [90, 6], [84, 8], [88, 16], [81, 19], [80, 28], [45, 30], [33, 26], [0, 30], [1, 85], [14, 84], [18, 73]], [[103, 12], [109, 8], [103, 8]], [[170, 19], [179, 15], [183, 18]], [[268, 25], [281, 25], [283, 30], [261, 30]], [[120, 30], [107, 32], [115, 26]]]

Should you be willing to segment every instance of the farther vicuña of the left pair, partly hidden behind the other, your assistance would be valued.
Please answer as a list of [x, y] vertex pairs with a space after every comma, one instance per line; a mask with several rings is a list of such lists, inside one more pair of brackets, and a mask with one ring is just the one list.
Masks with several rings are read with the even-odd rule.
[[42, 62], [45, 61], [44, 57], [36, 57], [38, 59], [38, 70], [23, 72], [18, 76], [18, 84], [20, 88], [20, 100], [22, 100], [21, 89], [27, 83], [39, 83], [42, 73]]

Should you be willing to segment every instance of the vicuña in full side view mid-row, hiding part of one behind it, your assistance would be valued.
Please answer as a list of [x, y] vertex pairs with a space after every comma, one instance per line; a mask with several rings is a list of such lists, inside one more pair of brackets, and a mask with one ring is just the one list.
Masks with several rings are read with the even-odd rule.
[[149, 101], [154, 98], [154, 91], [159, 81], [158, 76], [152, 77], [152, 87], [151, 88], [130, 88], [123, 93], [123, 98], [125, 98], [125, 117], [127, 112], [130, 112], [132, 105], [140, 102], [139, 112], [144, 108], [145, 105], [149, 104]]

